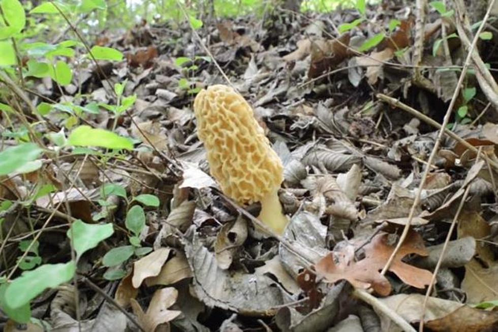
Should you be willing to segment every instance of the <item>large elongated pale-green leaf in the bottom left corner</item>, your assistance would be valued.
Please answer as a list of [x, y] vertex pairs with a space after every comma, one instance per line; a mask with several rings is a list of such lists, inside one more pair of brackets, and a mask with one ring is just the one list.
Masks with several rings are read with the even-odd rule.
[[32, 271], [24, 271], [5, 291], [5, 303], [13, 309], [28, 305], [29, 301], [47, 288], [70, 281], [76, 271], [74, 261], [64, 264], [44, 264]]

